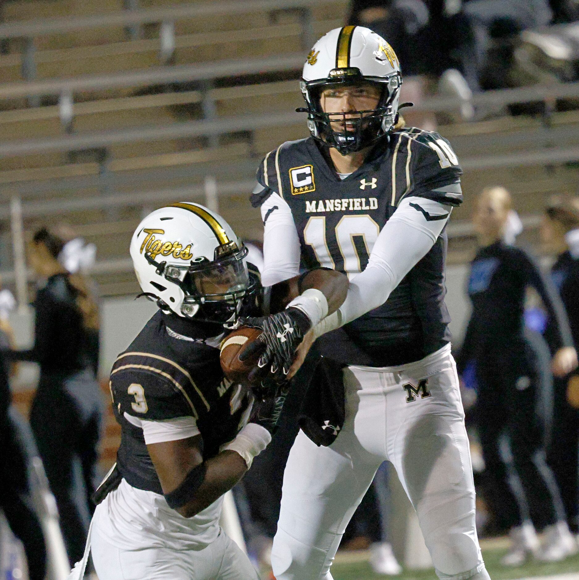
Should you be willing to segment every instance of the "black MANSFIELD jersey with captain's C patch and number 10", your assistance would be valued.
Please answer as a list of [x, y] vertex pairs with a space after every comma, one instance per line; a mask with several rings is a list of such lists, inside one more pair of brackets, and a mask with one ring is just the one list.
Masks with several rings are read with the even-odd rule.
[[[252, 195], [252, 205], [279, 194], [292, 211], [303, 268], [330, 267], [352, 278], [366, 267], [401, 200], [418, 196], [459, 205], [461, 175], [450, 143], [437, 133], [393, 132], [343, 180], [309, 137], [266, 155], [257, 175], [265, 189]], [[382, 367], [419, 360], [444, 346], [450, 340], [446, 251], [443, 232], [382, 306], [324, 335], [321, 350], [346, 364]]]

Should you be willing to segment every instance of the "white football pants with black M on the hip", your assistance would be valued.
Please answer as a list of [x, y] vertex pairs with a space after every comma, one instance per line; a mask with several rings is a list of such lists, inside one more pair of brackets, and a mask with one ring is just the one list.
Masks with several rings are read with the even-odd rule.
[[330, 565], [378, 466], [392, 462], [442, 579], [488, 579], [456, 365], [447, 345], [397, 367], [343, 371], [346, 418], [330, 447], [302, 431], [285, 467], [277, 580], [331, 580]]

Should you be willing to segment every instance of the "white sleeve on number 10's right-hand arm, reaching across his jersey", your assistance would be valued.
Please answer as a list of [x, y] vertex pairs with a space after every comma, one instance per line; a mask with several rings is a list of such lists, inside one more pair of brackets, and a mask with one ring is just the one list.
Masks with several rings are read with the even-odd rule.
[[[433, 247], [450, 212], [450, 206], [438, 201], [404, 199], [378, 235], [366, 269], [350, 280], [346, 300], [317, 325], [314, 334], [320, 336], [339, 328], [385, 303], [390, 292]], [[439, 216], [442, 218], [436, 219]]]

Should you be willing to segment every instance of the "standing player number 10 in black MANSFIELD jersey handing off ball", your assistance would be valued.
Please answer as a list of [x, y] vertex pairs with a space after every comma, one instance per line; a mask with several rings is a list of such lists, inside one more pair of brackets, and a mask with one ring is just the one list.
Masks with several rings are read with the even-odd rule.
[[[488, 579], [444, 305], [444, 228], [462, 201], [462, 172], [446, 139], [403, 128], [400, 84], [396, 54], [375, 32], [328, 32], [303, 68], [311, 136], [268, 153], [252, 194], [264, 223], [264, 284], [301, 265], [349, 277], [343, 305], [298, 349], [302, 356], [317, 338], [344, 365], [345, 421], [320, 416], [337, 434], [328, 447], [304, 432], [292, 447], [273, 543], [278, 580], [331, 580], [346, 524], [385, 460], [439, 577]], [[276, 355], [271, 367], [271, 352], [259, 361], [274, 375], [291, 360]]]

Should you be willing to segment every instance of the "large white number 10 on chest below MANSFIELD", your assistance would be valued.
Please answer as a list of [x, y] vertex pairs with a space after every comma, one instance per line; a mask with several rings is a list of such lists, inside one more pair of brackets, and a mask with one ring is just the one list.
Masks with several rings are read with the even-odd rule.
[[[325, 216], [312, 216], [303, 230], [303, 238], [311, 246], [320, 266], [332, 268], [336, 265], [326, 239]], [[335, 227], [336, 241], [344, 260], [344, 271], [348, 277], [359, 274], [367, 265], [380, 227], [367, 214], [343, 216]]]

